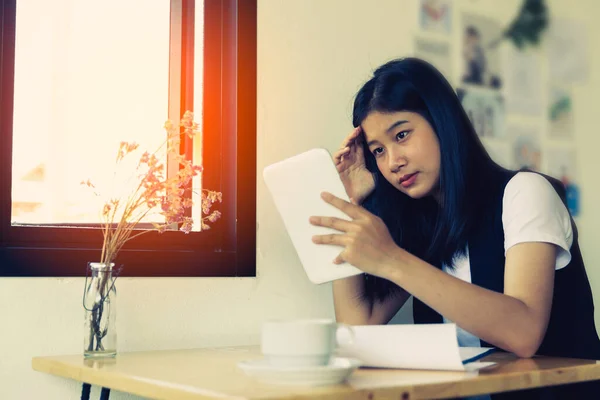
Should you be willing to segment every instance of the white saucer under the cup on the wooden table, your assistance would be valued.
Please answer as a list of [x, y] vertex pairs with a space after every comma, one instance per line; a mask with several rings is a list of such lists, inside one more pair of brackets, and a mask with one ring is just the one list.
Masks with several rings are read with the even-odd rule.
[[360, 366], [354, 358], [332, 357], [328, 365], [310, 367], [278, 367], [265, 359], [246, 360], [238, 363], [246, 374], [277, 385], [321, 386], [343, 382]]

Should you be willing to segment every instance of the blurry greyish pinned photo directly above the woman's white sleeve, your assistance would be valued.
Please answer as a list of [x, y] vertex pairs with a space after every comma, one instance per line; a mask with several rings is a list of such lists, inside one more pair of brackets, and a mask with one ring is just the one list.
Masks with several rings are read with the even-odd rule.
[[514, 168], [527, 168], [542, 171], [542, 150], [539, 128], [524, 125], [511, 125], [508, 128], [513, 135]]

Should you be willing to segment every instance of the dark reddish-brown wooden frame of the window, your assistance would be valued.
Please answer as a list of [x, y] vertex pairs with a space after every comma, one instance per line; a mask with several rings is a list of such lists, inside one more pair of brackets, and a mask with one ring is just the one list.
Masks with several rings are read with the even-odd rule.
[[[100, 230], [11, 225], [16, 0], [0, 1], [0, 276], [85, 276]], [[207, 231], [132, 240], [116, 259], [121, 276], [256, 276], [256, 0], [204, 2], [203, 185], [223, 193], [222, 217]], [[193, 109], [194, 7], [171, 0], [170, 52], [180, 58], [169, 118]]]

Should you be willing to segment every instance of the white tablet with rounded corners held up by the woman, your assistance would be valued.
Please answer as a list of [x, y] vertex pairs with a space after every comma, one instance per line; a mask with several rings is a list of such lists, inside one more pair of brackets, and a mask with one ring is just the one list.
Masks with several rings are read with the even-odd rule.
[[339, 231], [311, 225], [311, 216], [350, 219], [321, 199], [321, 192], [326, 191], [349, 200], [327, 150], [312, 149], [269, 165], [263, 177], [311, 282], [319, 284], [362, 273], [348, 263], [333, 263], [343, 247], [312, 242], [313, 235]]

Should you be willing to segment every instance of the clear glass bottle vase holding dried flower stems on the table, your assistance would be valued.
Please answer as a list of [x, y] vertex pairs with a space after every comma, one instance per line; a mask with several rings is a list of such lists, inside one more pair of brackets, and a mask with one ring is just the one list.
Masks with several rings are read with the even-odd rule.
[[117, 289], [114, 263], [88, 263], [83, 293], [85, 309], [83, 355], [87, 358], [117, 355]]

